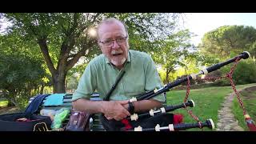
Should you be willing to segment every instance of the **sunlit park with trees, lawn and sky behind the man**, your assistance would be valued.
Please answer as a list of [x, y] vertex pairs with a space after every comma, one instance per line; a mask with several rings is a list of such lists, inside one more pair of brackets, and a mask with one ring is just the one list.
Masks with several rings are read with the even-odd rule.
[[[74, 93], [88, 62], [101, 54], [95, 37], [98, 22], [110, 17], [126, 23], [130, 49], [151, 55], [163, 84], [250, 52], [250, 58], [238, 63], [233, 79], [246, 110], [256, 120], [255, 13], [1, 13], [0, 114], [25, 110], [37, 94]], [[203, 78], [226, 75], [231, 66]], [[230, 82], [198, 79], [190, 84], [190, 98], [196, 104], [193, 113], [220, 122], [223, 102], [233, 92]], [[181, 103], [185, 96], [186, 83], [182, 83], [167, 93], [167, 104]], [[231, 113], [248, 130], [233, 97]], [[186, 110], [174, 113], [194, 122]]]

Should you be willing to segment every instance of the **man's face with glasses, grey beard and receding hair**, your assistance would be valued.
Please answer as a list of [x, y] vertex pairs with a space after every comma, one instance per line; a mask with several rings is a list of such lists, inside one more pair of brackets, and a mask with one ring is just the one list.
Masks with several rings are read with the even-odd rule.
[[128, 38], [122, 23], [103, 24], [98, 30], [99, 46], [114, 66], [122, 67], [128, 58]]

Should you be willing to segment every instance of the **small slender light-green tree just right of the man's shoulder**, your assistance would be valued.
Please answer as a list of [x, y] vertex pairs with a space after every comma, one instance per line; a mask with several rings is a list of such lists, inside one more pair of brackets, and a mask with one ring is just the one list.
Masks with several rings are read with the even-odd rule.
[[166, 71], [164, 83], [169, 83], [170, 73], [173, 73], [177, 66], [186, 66], [182, 61], [192, 56], [189, 49], [194, 49], [194, 46], [190, 44], [190, 37], [189, 30], [180, 30], [170, 34], [166, 40], [156, 42], [158, 50], [152, 52], [152, 55], [154, 62]]

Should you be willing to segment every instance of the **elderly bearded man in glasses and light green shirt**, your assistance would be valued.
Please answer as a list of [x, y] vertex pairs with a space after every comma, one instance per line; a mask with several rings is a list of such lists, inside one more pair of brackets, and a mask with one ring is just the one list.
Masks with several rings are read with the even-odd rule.
[[[128, 41], [126, 25], [118, 19], [108, 18], [98, 25], [98, 46], [102, 54], [86, 66], [72, 98], [74, 109], [86, 110], [90, 114], [102, 113], [104, 116], [101, 119], [106, 130], [120, 130], [123, 126], [120, 120], [123, 118], [134, 112], [159, 108], [165, 102], [163, 95], [150, 100], [128, 102], [128, 99], [138, 94], [162, 87], [153, 59], [149, 54], [129, 50]], [[94, 90], [104, 98], [122, 71], [126, 73], [110, 94], [109, 101], [89, 100]], [[150, 126], [154, 126], [154, 123]]]

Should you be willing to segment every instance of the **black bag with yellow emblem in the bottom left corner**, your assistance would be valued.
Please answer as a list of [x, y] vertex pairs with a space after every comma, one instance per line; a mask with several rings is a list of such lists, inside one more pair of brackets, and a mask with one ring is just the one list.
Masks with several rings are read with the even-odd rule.
[[[0, 131], [47, 131], [50, 130], [50, 117], [31, 114], [30, 121], [17, 122], [18, 118], [26, 118], [25, 113], [3, 114], [0, 115]], [[37, 130], [38, 125], [43, 129]], [[46, 126], [46, 127], [45, 127]]]

